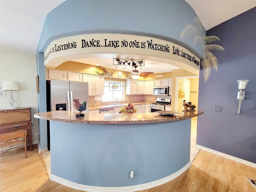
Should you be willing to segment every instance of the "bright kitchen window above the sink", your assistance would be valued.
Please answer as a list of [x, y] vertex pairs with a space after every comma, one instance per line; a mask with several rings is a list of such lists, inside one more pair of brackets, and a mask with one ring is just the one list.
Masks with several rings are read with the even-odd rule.
[[[109, 86], [113, 84], [120, 84], [120, 90], [112, 90]], [[114, 102], [125, 101], [125, 82], [104, 80], [104, 95], [102, 96], [102, 102]]]

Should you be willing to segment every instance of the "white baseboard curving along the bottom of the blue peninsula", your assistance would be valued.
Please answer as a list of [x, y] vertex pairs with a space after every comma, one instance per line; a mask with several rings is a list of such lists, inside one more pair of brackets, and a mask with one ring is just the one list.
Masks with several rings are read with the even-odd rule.
[[60, 178], [58, 176], [55, 176], [54, 174], [50, 174], [50, 180], [55, 181], [57, 183], [60, 183], [64, 186], [76, 189], [76, 190], [82, 190], [87, 192], [136, 192], [140, 190], [149, 189], [152, 187], [160, 186], [162, 184], [165, 184], [174, 178], [180, 176], [183, 172], [185, 172], [189, 167], [191, 166], [191, 162], [188, 162], [183, 168], [175, 172], [174, 174], [171, 174], [165, 178], [140, 184], [140, 185], [134, 185], [134, 186], [125, 186], [125, 187], [97, 187], [97, 186], [88, 186], [88, 185], [82, 185], [78, 183], [74, 183], [68, 180], [65, 180], [63, 178]]

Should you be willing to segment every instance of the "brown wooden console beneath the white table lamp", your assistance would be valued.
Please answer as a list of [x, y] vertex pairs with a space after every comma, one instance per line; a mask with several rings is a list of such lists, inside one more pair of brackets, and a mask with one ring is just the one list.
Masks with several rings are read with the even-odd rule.
[[32, 151], [31, 126], [31, 107], [0, 109], [0, 134], [18, 130], [27, 130], [30, 151]]

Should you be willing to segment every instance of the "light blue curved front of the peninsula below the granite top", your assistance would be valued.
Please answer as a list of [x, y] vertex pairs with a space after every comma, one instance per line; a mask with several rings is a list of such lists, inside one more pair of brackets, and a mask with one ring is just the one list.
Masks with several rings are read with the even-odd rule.
[[190, 162], [190, 125], [191, 119], [111, 125], [50, 121], [51, 174], [101, 187], [162, 179]]

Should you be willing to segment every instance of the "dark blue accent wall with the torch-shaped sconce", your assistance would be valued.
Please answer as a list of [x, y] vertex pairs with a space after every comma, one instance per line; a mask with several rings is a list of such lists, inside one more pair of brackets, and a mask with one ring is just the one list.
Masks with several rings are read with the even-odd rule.
[[[218, 72], [205, 83], [200, 70], [197, 144], [256, 163], [256, 8], [206, 32], [220, 38], [224, 51], [213, 51]], [[238, 83], [249, 79], [246, 98], [238, 110]], [[221, 106], [221, 112], [214, 112]]]

